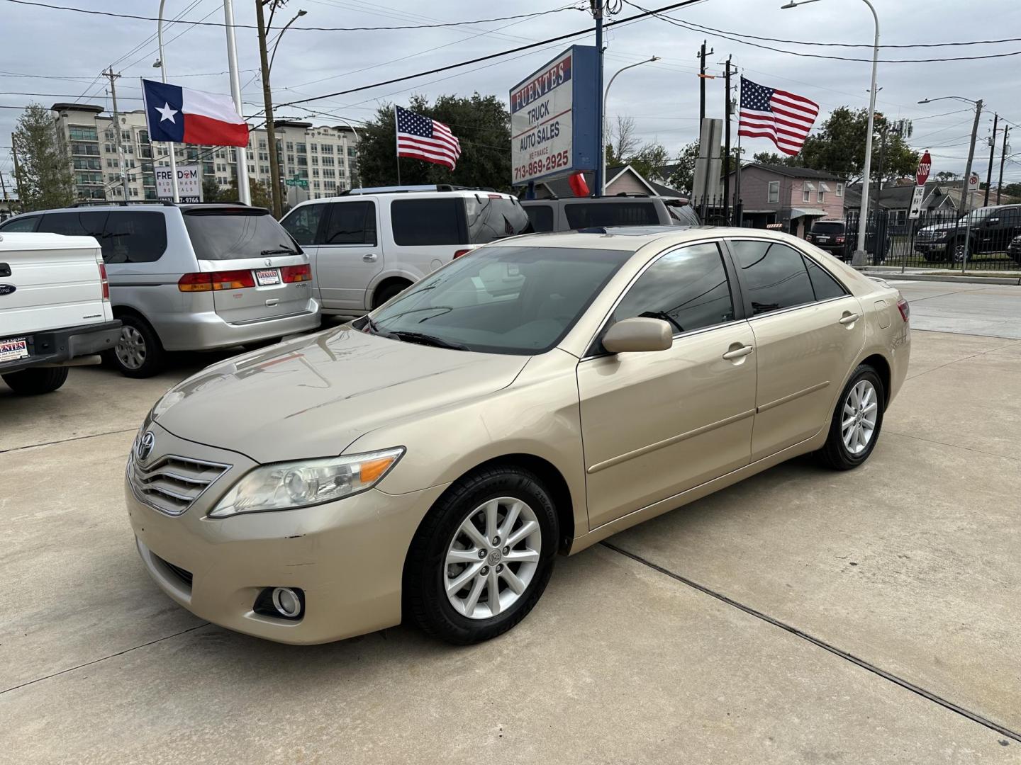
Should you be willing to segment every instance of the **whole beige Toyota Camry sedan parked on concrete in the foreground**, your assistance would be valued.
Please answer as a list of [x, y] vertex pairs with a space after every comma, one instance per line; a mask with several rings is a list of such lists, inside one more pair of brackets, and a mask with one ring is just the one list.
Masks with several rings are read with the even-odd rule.
[[796, 455], [861, 465], [909, 352], [895, 289], [782, 234], [501, 240], [172, 389], [128, 512], [152, 578], [216, 624], [475, 643], [557, 554]]

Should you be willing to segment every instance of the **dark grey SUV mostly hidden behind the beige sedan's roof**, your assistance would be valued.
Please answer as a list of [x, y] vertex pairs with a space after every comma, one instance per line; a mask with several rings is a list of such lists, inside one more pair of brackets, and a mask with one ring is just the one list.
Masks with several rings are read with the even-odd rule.
[[701, 225], [685, 199], [619, 194], [614, 197], [522, 201], [534, 232], [570, 232], [603, 225]]

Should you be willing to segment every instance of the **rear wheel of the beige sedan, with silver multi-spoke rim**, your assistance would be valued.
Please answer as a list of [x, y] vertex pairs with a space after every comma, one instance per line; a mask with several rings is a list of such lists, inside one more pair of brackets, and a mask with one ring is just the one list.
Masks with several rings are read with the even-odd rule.
[[876, 370], [859, 366], [837, 400], [826, 444], [819, 450], [824, 464], [849, 470], [869, 458], [882, 428], [885, 400]]

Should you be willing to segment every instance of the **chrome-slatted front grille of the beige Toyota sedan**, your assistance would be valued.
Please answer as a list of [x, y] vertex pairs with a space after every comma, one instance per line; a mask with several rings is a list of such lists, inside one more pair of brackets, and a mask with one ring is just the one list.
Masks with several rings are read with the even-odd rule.
[[128, 480], [142, 502], [161, 513], [181, 515], [230, 468], [173, 454], [157, 457], [151, 465], [140, 465], [133, 451]]

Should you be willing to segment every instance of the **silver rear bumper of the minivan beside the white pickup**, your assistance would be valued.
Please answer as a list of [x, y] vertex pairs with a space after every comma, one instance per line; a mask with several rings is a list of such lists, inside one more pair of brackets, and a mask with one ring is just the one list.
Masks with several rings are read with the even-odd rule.
[[215, 311], [162, 313], [147, 318], [167, 351], [209, 351], [257, 343], [315, 329], [322, 320], [313, 298], [287, 315], [238, 323], [225, 321]]

